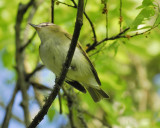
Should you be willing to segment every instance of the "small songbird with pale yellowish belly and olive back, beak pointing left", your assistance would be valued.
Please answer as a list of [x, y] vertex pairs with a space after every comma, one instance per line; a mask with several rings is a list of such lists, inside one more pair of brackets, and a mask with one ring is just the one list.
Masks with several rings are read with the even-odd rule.
[[[36, 29], [41, 40], [39, 54], [42, 62], [55, 73], [56, 77], [59, 77], [72, 36], [53, 23], [30, 25]], [[100, 88], [101, 82], [97, 72], [80, 43], [76, 46], [65, 82], [83, 93], [86, 93], [87, 89], [95, 102], [109, 98]]]

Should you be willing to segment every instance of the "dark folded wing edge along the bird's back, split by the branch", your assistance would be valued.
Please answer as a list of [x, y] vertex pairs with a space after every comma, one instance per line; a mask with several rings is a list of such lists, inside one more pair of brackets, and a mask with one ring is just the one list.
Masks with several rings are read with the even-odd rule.
[[[65, 36], [66, 36], [67, 38], [69, 38], [70, 40], [72, 39], [72, 36], [71, 36], [70, 34], [68, 34], [68, 33], [64, 33], [64, 34], [65, 34]], [[96, 70], [95, 70], [92, 62], [90, 61], [89, 57], [87, 56], [87, 53], [83, 50], [83, 48], [82, 48], [82, 46], [80, 45], [80, 43], [78, 43], [77, 46], [78, 46], [78, 48], [81, 50], [82, 54], [85, 56], [86, 60], [88, 61], [89, 65], [90, 65], [90, 67], [91, 67], [92, 73], [93, 73], [93, 75], [94, 75], [97, 83], [98, 83], [99, 85], [101, 85], [101, 82], [100, 82], [100, 80], [99, 80], [98, 74], [97, 74], [97, 72], [96, 72]]]

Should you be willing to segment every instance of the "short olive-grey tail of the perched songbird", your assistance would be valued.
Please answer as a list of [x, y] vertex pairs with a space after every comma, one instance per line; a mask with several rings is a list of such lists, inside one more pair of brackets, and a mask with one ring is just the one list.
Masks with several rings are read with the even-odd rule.
[[105, 93], [101, 88], [87, 87], [87, 90], [94, 102], [98, 102], [103, 98], [109, 98], [107, 93]]

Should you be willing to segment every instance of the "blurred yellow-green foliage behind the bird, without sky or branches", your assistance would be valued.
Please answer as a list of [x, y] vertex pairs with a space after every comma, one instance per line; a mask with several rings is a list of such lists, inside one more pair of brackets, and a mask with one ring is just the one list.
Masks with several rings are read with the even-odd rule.
[[[17, 6], [28, 0], [0, 1], [0, 50], [2, 62], [13, 71], [15, 65], [15, 33]], [[61, 0], [72, 5], [70, 0]], [[76, 1], [77, 2], [77, 1]], [[85, 11], [94, 24], [98, 41], [106, 36], [106, 17], [102, 14], [106, 1], [86, 0]], [[144, 32], [160, 23], [160, 2], [154, 0], [122, 0], [123, 29], [131, 27], [128, 35]], [[119, 8], [117, 0], [108, 0], [108, 33], [109, 37], [119, 33]], [[14, 9], [13, 9], [14, 8]], [[44, 1], [31, 21], [34, 24], [50, 21], [50, 1]], [[34, 30], [28, 25], [27, 17], [21, 26], [31, 37]], [[76, 9], [62, 4], [55, 4], [55, 24], [73, 33]], [[133, 32], [134, 30], [134, 32]], [[110, 99], [94, 103], [88, 94], [78, 93], [80, 105], [84, 110], [107, 122], [115, 128], [159, 128], [160, 127], [160, 86], [155, 85], [155, 76], [160, 74], [160, 27], [140, 36], [107, 41], [89, 53], [102, 82], [102, 88]], [[22, 36], [23, 37], [23, 36]], [[80, 42], [86, 48], [93, 43], [93, 34], [89, 22], [84, 17]], [[26, 39], [27, 40], [27, 39]], [[25, 65], [31, 72], [39, 62], [38, 36], [26, 48]], [[97, 52], [97, 53], [96, 53]], [[96, 54], [94, 54], [96, 53]], [[41, 78], [37, 78], [41, 79]], [[157, 79], [160, 79], [158, 77]], [[156, 79], [156, 80], [157, 80]], [[66, 101], [63, 103], [63, 114], [68, 113]], [[48, 112], [49, 120], [54, 119], [59, 111], [58, 100]], [[85, 114], [85, 120], [91, 128], [105, 127], [102, 122]]]

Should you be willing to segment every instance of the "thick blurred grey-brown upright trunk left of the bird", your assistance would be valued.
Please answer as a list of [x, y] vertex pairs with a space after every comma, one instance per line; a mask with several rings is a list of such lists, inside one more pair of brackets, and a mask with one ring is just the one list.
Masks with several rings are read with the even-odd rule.
[[23, 21], [23, 17], [26, 11], [29, 9], [31, 5], [33, 5], [35, 0], [30, 0], [27, 4], [19, 4], [17, 17], [16, 17], [16, 25], [15, 25], [15, 45], [16, 45], [16, 67], [17, 67], [17, 84], [19, 85], [22, 96], [23, 96], [23, 111], [24, 111], [24, 119], [25, 125], [29, 124], [29, 104], [28, 104], [28, 94], [27, 94], [27, 83], [25, 82], [25, 68], [24, 68], [24, 53], [21, 53], [19, 49], [22, 47], [22, 39], [21, 39], [21, 24]]

